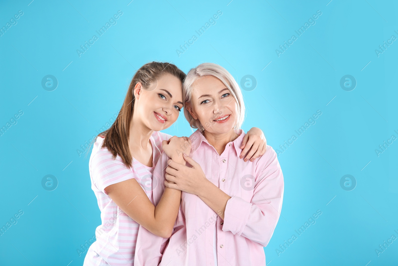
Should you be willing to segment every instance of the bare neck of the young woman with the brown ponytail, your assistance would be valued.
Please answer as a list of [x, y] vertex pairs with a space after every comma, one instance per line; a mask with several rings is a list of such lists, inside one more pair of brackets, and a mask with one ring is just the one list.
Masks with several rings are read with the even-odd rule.
[[130, 150], [146, 150], [151, 145], [149, 138], [154, 130], [151, 130], [142, 122], [138, 115], [131, 115], [129, 128]]

